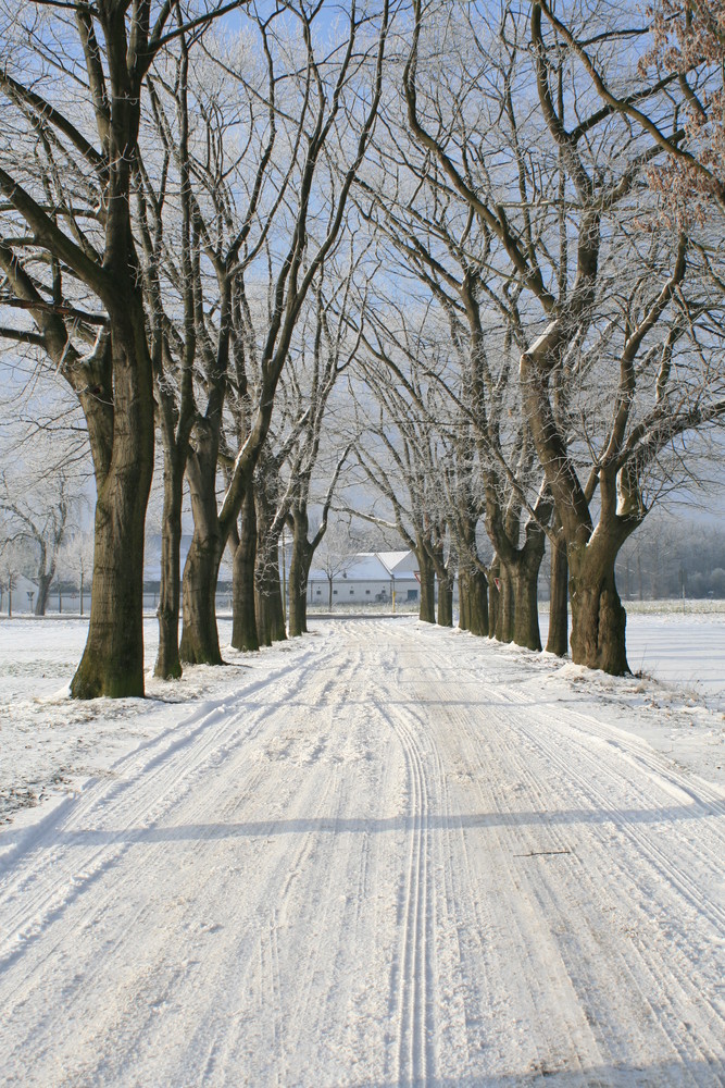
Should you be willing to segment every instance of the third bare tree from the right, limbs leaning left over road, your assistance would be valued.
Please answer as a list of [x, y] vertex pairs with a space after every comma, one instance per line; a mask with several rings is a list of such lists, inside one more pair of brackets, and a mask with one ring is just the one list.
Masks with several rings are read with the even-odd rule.
[[[517, 119], [510, 101], [503, 107], [508, 127], [502, 125], [498, 135], [505, 153], [515, 159]], [[390, 125], [395, 123], [392, 118]], [[372, 201], [367, 214], [389, 244], [390, 259], [399, 262], [401, 274], [415, 276], [418, 289], [428, 292], [441, 311], [439, 336], [451, 345], [454, 361], [437, 381], [455, 404], [457, 433], [468, 428], [477, 449], [486, 528], [498, 554], [501, 584], [496, 633], [539, 650], [537, 582], [553, 504], [549, 490], [540, 487], [542, 472], [530, 429], [521, 419], [515, 381], [517, 351], [526, 343], [521, 288], [504, 277], [497, 283], [491, 275], [496, 239], [451, 191], [428, 147], [396, 129], [396, 138], [380, 145], [379, 152], [384, 171], [363, 183], [364, 197]], [[522, 161], [522, 184], [527, 169]], [[532, 248], [538, 243], [540, 220], [534, 213], [528, 218]], [[452, 509], [458, 508], [453, 504]], [[462, 530], [461, 540], [472, 537], [471, 529]], [[468, 558], [466, 568], [470, 584], [480, 593], [477, 564]]]

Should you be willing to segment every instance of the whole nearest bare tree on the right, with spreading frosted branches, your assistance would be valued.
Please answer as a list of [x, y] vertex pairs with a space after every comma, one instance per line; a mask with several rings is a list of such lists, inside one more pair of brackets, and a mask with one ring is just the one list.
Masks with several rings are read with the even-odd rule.
[[[436, 9], [424, 15], [416, 3], [415, 13], [404, 75], [411, 133], [491, 239], [489, 279], [521, 296], [522, 404], [566, 540], [573, 657], [626, 671], [614, 560], [647, 512], [663, 458], [674, 463], [678, 436], [725, 410], [712, 381], [716, 306], [700, 289], [687, 237], [655, 224], [637, 233], [659, 144], [591, 108], [561, 40], [543, 33], [540, 5], [528, 23], [509, 5], [496, 22], [484, 5], [462, 14], [482, 71], [488, 62], [485, 85], [470, 63], [440, 78]], [[428, 26], [438, 36], [424, 55]], [[482, 113], [495, 123], [482, 125]], [[514, 128], [518, 118], [526, 123]], [[514, 153], [501, 168], [502, 123]], [[555, 149], [548, 159], [542, 135]], [[533, 215], [547, 214], [535, 230]]]

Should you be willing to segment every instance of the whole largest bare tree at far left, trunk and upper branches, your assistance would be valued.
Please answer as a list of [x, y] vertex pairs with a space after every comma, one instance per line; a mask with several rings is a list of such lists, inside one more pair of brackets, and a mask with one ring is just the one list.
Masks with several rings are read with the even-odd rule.
[[[201, 33], [239, 2], [184, 5]], [[11, 10], [12, 8], [12, 10]], [[145, 79], [182, 27], [150, 0], [3, 4], [0, 261], [29, 333], [75, 390], [96, 471], [96, 559], [77, 697], [143, 693], [143, 520], [153, 469], [153, 366], [130, 190]], [[43, 74], [45, 73], [45, 74]], [[26, 150], [15, 156], [15, 148]], [[45, 274], [38, 279], [36, 268]], [[73, 305], [78, 287], [89, 309]], [[98, 312], [100, 308], [100, 313]], [[76, 323], [98, 335], [78, 347]], [[28, 333], [25, 333], [28, 335]]]

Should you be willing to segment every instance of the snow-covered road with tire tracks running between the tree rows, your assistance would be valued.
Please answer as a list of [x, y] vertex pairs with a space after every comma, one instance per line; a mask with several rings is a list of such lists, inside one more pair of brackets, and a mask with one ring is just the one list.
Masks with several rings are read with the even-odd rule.
[[722, 789], [550, 665], [315, 630], [0, 832], [0, 1083], [722, 1085]]

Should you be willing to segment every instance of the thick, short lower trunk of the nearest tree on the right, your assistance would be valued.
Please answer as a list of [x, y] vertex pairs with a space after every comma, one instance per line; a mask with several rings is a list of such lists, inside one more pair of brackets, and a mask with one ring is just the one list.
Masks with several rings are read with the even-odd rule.
[[627, 615], [614, 580], [618, 548], [611, 541], [568, 547], [572, 602], [572, 660], [612, 676], [629, 672], [625, 643]]

